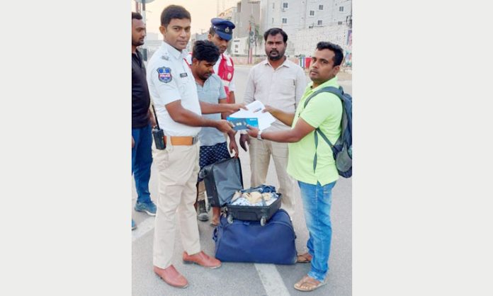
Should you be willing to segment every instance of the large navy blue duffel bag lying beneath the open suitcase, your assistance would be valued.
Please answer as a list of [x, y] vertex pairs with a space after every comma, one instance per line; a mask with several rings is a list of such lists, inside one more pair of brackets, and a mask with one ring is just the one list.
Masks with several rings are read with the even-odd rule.
[[288, 212], [278, 210], [271, 220], [260, 222], [234, 220], [222, 216], [214, 229], [215, 258], [224, 262], [295, 264], [295, 230]]

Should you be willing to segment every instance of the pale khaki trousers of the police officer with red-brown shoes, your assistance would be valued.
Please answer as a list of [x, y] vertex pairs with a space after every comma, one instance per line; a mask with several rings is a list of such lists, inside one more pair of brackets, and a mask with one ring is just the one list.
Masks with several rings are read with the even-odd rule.
[[154, 266], [171, 265], [175, 245], [175, 216], [178, 213], [181, 241], [188, 254], [200, 251], [197, 213], [193, 203], [197, 195], [198, 143], [154, 149], [159, 171], [159, 195], [154, 227]]

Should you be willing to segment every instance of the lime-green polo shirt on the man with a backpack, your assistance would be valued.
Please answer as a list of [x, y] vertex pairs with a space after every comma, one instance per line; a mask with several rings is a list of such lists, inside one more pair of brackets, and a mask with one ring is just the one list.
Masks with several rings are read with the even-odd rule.
[[[300, 103], [296, 108], [293, 125], [295, 127], [298, 118], [303, 118], [312, 127], [319, 127], [329, 138], [331, 143], [335, 143], [341, 135], [342, 103], [333, 93], [319, 93], [314, 96], [305, 109], [306, 99], [315, 91], [326, 86], [339, 88], [337, 77], [325, 81], [316, 88], [312, 89], [313, 82], [308, 84]], [[332, 150], [329, 145], [318, 137], [317, 147], [317, 169], [313, 171], [313, 159], [315, 156], [314, 131], [303, 137], [300, 142], [289, 143], [288, 173], [297, 181], [316, 185], [317, 181], [322, 186], [332, 183], [339, 178], [336, 163]]]

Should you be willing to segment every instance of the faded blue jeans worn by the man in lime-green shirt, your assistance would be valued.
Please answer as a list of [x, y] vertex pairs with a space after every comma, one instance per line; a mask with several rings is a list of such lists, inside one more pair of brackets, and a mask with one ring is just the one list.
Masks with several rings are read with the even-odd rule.
[[319, 281], [325, 279], [329, 271], [329, 254], [332, 237], [330, 206], [332, 188], [336, 182], [325, 186], [298, 181], [305, 211], [305, 220], [310, 238], [307, 241], [308, 253], [313, 256], [308, 275]]

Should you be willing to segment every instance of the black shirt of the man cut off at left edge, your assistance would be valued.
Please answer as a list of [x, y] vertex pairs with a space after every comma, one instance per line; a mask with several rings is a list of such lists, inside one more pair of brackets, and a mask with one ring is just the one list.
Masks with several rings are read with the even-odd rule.
[[145, 66], [142, 55], [137, 50], [137, 55], [132, 54], [132, 128], [149, 124], [150, 103]]

